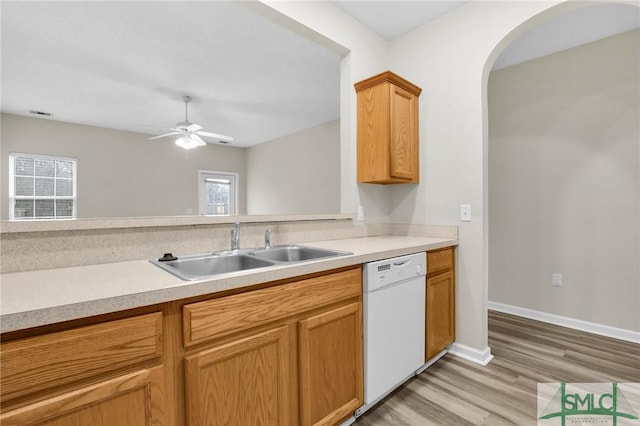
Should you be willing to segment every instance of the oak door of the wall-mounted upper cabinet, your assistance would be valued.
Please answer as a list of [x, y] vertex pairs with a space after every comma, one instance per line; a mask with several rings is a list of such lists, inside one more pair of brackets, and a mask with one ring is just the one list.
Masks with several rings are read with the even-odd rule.
[[391, 90], [390, 174], [391, 177], [417, 181], [417, 98], [393, 84], [389, 85], [389, 88]]

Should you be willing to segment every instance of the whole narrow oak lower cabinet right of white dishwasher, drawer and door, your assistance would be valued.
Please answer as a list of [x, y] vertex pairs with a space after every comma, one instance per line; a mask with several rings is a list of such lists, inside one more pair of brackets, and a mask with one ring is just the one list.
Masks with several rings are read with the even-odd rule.
[[425, 361], [455, 341], [454, 259], [453, 247], [427, 252]]

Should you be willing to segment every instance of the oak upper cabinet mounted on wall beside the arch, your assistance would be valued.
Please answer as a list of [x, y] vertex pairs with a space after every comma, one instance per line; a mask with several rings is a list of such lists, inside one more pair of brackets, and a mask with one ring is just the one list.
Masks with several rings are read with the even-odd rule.
[[358, 182], [418, 183], [418, 96], [422, 89], [386, 71], [355, 84]]

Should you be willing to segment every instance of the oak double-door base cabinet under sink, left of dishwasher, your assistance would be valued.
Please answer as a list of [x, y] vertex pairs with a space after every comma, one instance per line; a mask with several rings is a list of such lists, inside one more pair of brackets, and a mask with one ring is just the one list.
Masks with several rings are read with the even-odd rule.
[[183, 307], [187, 424], [336, 425], [363, 403], [358, 266]]

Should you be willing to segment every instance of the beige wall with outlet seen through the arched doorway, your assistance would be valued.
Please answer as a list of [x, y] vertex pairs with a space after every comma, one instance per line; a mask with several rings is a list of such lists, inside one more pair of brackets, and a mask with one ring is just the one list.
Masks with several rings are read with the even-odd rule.
[[640, 331], [639, 52], [636, 30], [491, 73], [489, 300]]

